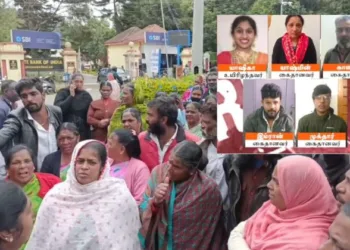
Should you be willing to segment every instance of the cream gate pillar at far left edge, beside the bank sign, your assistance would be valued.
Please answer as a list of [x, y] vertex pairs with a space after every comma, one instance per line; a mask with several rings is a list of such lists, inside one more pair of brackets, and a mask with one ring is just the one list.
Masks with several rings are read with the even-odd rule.
[[0, 43], [1, 76], [19, 81], [25, 77], [23, 46], [20, 43]]

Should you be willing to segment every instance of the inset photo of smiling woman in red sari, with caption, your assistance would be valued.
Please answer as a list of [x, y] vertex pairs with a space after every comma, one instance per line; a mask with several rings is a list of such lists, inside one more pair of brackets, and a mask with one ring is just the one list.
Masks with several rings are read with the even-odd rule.
[[219, 78], [266, 78], [267, 16], [218, 15], [217, 53]]

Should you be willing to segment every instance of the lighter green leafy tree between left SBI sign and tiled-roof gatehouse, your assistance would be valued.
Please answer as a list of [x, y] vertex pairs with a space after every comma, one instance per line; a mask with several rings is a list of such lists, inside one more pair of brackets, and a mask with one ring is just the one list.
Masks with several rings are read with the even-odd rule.
[[77, 51], [79, 48], [86, 60], [91, 60], [95, 67], [98, 60], [106, 57], [105, 41], [115, 36], [115, 31], [109, 27], [107, 21], [97, 18], [87, 23], [77, 20], [65, 22], [60, 31], [67, 42]]

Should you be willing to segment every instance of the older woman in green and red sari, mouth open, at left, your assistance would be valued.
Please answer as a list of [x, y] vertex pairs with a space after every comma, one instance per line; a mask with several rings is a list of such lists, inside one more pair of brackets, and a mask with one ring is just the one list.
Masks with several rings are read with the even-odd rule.
[[11, 148], [5, 157], [7, 180], [22, 187], [24, 193], [31, 201], [34, 217], [49, 190], [60, 178], [44, 173], [35, 173], [35, 157], [25, 145], [16, 145]]

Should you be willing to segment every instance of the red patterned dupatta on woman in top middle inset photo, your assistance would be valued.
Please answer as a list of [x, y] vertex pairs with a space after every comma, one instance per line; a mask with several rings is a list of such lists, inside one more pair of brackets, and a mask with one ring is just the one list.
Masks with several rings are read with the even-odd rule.
[[301, 33], [299, 37], [296, 50], [293, 48], [293, 43], [288, 33], [282, 37], [282, 47], [288, 64], [301, 64], [308, 46], [309, 38], [304, 33]]

